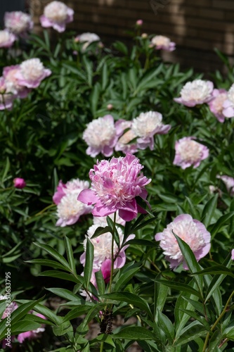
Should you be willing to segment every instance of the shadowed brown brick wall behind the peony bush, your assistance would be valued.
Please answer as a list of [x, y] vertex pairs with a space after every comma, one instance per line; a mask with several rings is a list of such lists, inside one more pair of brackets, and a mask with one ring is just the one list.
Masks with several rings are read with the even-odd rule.
[[[30, 0], [30, 11], [38, 22], [48, 0]], [[96, 32], [103, 42], [128, 41], [138, 19], [143, 32], [162, 34], [176, 42], [177, 49], [163, 54], [170, 61], [193, 66], [197, 71], [222, 69], [214, 47], [233, 58], [233, 0], [64, 0], [74, 9], [74, 22], [68, 27], [77, 34]], [[39, 26], [36, 27], [36, 30]]]

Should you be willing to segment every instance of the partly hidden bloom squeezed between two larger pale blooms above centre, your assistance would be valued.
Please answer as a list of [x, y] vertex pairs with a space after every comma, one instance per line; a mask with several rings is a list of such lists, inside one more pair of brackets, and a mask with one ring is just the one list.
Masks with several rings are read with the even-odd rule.
[[[132, 121], [118, 120], [115, 122], [115, 128], [119, 139], [115, 144], [116, 151], [134, 154], [138, 151], [136, 144], [136, 134], [131, 130]], [[133, 142], [134, 141], [134, 142]]]

